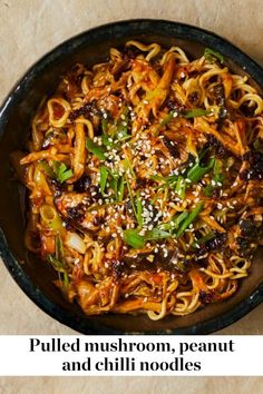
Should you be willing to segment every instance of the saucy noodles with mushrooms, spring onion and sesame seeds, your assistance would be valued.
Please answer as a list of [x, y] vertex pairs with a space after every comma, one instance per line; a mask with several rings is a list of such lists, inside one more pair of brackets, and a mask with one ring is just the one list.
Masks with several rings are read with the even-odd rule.
[[[27, 247], [87, 315], [231, 297], [263, 238], [263, 100], [220, 53], [128, 41], [45, 98], [19, 179]], [[26, 168], [26, 169], [25, 169]]]

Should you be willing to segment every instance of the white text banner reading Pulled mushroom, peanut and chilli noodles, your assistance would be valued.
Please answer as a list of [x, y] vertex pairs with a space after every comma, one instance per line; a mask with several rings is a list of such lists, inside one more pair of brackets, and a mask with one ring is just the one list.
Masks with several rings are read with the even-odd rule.
[[259, 376], [262, 335], [0, 336], [1, 376]]

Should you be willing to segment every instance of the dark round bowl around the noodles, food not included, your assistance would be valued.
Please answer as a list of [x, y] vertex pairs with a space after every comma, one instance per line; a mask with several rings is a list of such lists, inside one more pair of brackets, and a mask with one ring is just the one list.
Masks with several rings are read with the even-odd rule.
[[50, 93], [58, 79], [76, 62], [88, 66], [105, 61], [110, 47], [130, 39], [182, 47], [199, 57], [204, 48], [221, 52], [228, 67], [247, 75], [260, 91], [263, 69], [228, 41], [205, 30], [163, 20], [130, 20], [106, 24], [64, 42], [41, 58], [12, 89], [0, 111], [0, 252], [3, 262], [23, 292], [57, 321], [85, 334], [207, 334], [232, 324], [263, 299], [262, 249], [251, 274], [237, 293], [220, 304], [208, 305], [185, 317], [168, 316], [152, 322], [144, 315], [87, 317], [77, 305], [67, 303], [52, 284], [53, 272], [23, 246], [25, 189], [13, 180], [10, 154], [25, 146], [29, 124], [39, 101]]

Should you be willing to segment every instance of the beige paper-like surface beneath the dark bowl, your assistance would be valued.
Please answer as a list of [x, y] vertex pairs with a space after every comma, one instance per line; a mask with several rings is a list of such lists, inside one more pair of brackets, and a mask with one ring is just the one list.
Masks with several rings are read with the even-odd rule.
[[[233, 41], [263, 65], [262, 0], [0, 0], [0, 100], [40, 56], [91, 27], [132, 18], [183, 21]], [[0, 260], [0, 334], [75, 334], [14, 284]], [[263, 305], [218, 334], [263, 334]], [[2, 378], [0, 394], [247, 393], [262, 378]]]

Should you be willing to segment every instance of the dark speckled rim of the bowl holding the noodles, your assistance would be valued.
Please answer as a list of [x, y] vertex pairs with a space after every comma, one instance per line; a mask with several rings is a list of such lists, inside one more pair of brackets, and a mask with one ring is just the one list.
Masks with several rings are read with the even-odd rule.
[[[89, 36], [109, 31], [111, 28], [124, 28], [132, 27], [133, 24], [139, 26], [138, 35], [147, 35], [147, 29], [150, 30], [156, 26], [165, 26], [167, 30], [169, 29], [171, 37], [178, 39], [187, 39], [191, 41], [196, 41], [201, 45], [205, 45], [205, 47], [212, 47], [213, 49], [220, 51], [234, 62], [236, 62], [240, 67], [243, 65], [243, 69], [260, 85], [263, 87], [263, 68], [256, 63], [252, 58], [245, 55], [241, 49], [238, 49], [235, 45], [231, 43], [225, 38], [222, 38], [214, 32], [208, 30], [182, 23], [177, 21], [169, 21], [163, 19], [129, 19], [129, 20], [120, 20], [106, 24], [101, 24], [91, 29], [88, 29], [81, 33], [78, 33], [65, 41], [60, 45], [56, 46], [53, 49], [43, 55], [39, 60], [37, 60], [14, 83], [13, 88], [9, 91], [6, 99], [2, 102], [0, 108], [0, 144], [1, 138], [3, 136], [4, 126], [8, 121], [9, 112], [11, 111], [13, 105], [19, 101], [20, 97], [23, 95], [23, 91], [27, 89], [28, 83], [33, 79], [36, 73], [41, 75], [42, 70], [47, 68], [48, 65], [52, 65], [56, 59], [58, 59], [61, 52], [69, 52], [70, 48], [80, 47], [84, 45], [86, 38]], [[163, 37], [168, 37], [168, 33], [164, 33]], [[244, 298], [242, 302], [236, 304], [230, 311], [202, 323], [195, 324], [194, 326], [182, 327], [182, 328], [173, 328], [173, 329], [160, 329], [160, 331], [147, 331], [147, 332], [123, 332], [116, 328], [110, 328], [108, 326], [96, 323], [96, 319], [87, 319], [78, 318], [72, 313], [62, 309], [52, 303], [29, 278], [29, 276], [23, 272], [22, 266], [12, 255], [7, 238], [4, 236], [3, 230], [0, 227], [0, 257], [2, 258], [6, 267], [8, 268], [12, 278], [17, 282], [19, 287], [26, 293], [26, 295], [36, 304], [40, 309], [46, 312], [49, 316], [55, 318], [56, 321], [62, 323], [64, 325], [79, 332], [82, 334], [100, 334], [100, 335], [120, 335], [120, 334], [172, 334], [172, 335], [198, 335], [198, 334], [210, 334], [213, 332], [217, 332], [234, 322], [242, 318], [253, 308], [255, 308], [263, 301], [263, 283], [257, 286], [253, 290], [253, 293]]]

